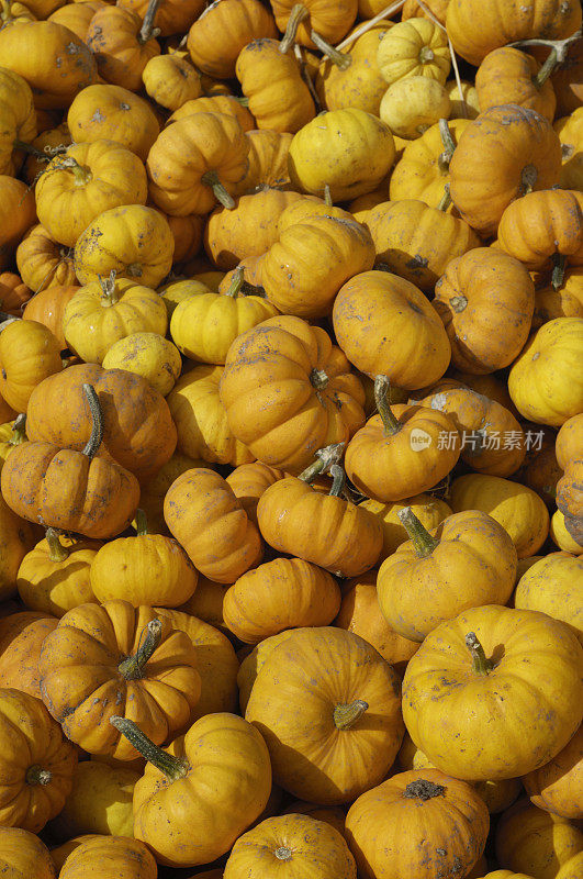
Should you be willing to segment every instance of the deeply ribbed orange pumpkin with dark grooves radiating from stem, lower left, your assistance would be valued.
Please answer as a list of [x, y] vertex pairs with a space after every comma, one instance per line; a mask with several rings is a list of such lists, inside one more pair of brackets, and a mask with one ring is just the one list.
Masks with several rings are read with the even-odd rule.
[[43, 701], [68, 738], [121, 760], [137, 755], [111, 716], [123, 711], [161, 744], [188, 727], [201, 692], [188, 635], [121, 600], [68, 611], [45, 638], [38, 667]]

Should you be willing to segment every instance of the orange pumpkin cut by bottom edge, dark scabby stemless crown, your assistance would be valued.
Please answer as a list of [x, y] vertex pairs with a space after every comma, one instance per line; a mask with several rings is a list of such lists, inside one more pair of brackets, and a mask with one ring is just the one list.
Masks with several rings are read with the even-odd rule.
[[[415, 785], [427, 793], [413, 795]], [[437, 769], [394, 775], [359, 797], [346, 816], [347, 839], [367, 879], [466, 875], [484, 850], [489, 828], [480, 795]]]

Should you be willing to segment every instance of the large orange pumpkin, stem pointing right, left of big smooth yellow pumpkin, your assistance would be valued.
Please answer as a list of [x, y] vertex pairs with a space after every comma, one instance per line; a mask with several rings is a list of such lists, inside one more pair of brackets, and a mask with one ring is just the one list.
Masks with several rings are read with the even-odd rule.
[[[368, 711], [337, 728], [335, 708], [357, 699]], [[295, 628], [279, 642], [245, 716], [267, 742], [276, 783], [323, 805], [379, 783], [403, 737], [396, 674], [366, 641], [330, 626]]]

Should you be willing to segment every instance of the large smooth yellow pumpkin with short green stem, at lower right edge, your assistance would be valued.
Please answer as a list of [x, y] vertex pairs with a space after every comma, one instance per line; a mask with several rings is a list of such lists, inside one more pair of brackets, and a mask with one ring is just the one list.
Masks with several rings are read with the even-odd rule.
[[[497, 663], [487, 675], [473, 670], [469, 633]], [[536, 611], [472, 608], [437, 626], [410, 660], [403, 680], [408, 733], [435, 766], [458, 778], [526, 775], [576, 732], [582, 663], [583, 648], [564, 623]]]

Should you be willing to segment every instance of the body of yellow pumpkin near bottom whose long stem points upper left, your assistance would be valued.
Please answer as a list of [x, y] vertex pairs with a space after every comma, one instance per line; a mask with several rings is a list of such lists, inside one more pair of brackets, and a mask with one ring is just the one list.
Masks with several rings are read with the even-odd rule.
[[158, 864], [209, 864], [228, 852], [267, 804], [271, 766], [266, 743], [243, 717], [217, 713], [198, 720], [167, 750], [188, 759], [191, 769], [169, 781], [146, 765], [134, 791], [134, 835]]

